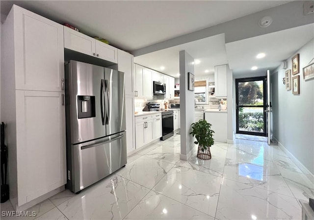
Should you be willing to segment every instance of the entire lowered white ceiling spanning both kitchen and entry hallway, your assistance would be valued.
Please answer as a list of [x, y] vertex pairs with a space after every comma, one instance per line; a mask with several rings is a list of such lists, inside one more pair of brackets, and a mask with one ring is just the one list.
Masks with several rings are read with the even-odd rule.
[[[302, 34], [300, 34], [302, 33]], [[307, 24], [282, 31], [264, 34], [225, 44], [225, 35], [219, 34], [176, 47], [134, 57], [134, 62], [153, 70], [179, 77], [179, 51], [185, 50], [200, 63], [194, 66], [195, 76], [200, 78], [214, 73], [214, 66], [229, 64], [233, 74], [255, 76], [277, 68], [314, 37], [314, 24]], [[257, 59], [258, 53], [265, 57]], [[160, 67], [165, 69], [162, 71]], [[251, 67], [258, 70], [252, 71]], [[209, 73], [205, 73], [209, 70]]]

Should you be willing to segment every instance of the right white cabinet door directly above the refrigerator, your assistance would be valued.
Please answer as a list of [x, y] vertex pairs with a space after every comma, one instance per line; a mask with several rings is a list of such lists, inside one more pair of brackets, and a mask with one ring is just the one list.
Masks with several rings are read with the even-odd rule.
[[105, 44], [99, 40], [96, 41], [96, 57], [108, 60], [112, 63], [118, 63], [118, 49]]

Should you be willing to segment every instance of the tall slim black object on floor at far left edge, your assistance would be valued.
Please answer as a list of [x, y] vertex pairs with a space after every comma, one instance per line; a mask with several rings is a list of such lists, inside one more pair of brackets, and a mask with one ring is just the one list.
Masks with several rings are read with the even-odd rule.
[[6, 184], [6, 173], [8, 170], [8, 163], [7, 163], [7, 147], [4, 144], [4, 123], [1, 122], [1, 150], [0, 150], [0, 157], [1, 157], [1, 198], [0, 202], [3, 203], [9, 199], [9, 185]]

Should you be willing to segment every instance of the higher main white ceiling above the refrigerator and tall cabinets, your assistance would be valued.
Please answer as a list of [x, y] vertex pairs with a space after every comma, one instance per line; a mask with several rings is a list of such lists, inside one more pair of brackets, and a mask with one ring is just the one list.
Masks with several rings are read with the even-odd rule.
[[60, 24], [76, 26], [88, 35], [105, 38], [120, 49], [132, 51], [287, 2], [1, 0], [0, 10], [7, 15], [15, 3]]

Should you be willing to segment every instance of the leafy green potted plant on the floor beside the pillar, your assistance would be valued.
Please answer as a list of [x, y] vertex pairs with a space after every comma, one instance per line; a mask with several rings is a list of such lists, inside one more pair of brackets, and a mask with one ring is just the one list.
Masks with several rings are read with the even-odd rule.
[[198, 144], [197, 157], [203, 160], [209, 160], [211, 158], [209, 147], [214, 144], [212, 134], [215, 132], [210, 129], [210, 126], [211, 124], [209, 122], [202, 119], [191, 124], [190, 134], [196, 138], [194, 144]]

